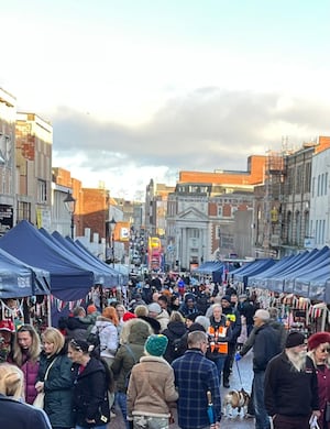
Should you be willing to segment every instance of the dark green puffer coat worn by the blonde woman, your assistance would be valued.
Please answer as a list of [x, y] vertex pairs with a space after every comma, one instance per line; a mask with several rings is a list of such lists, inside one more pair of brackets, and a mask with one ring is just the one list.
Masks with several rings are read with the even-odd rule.
[[[55, 361], [44, 380], [47, 367]], [[62, 350], [59, 354], [47, 358], [43, 352], [40, 359], [38, 381], [44, 382], [45, 406], [52, 427], [72, 428], [73, 421], [73, 387], [72, 360]]]

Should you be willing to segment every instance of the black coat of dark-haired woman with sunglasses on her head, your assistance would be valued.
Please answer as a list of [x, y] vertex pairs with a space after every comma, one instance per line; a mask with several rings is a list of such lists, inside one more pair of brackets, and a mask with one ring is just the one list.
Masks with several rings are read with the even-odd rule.
[[[79, 374], [79, 365], [74, 366], [74, 411], [77, 426], [89, 428], [110, 421], [108, 385], [105, 364], [96, 358]], [[87, 424], [86, 419], [95, 419]]]

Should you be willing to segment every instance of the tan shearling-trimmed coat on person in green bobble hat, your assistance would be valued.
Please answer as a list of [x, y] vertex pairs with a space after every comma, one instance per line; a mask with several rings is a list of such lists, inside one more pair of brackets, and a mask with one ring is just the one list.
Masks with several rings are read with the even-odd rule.
[[177, 398], [172, 366], [163, 358], [141, 358], [130, 377], [128, 417], [169, 417]]

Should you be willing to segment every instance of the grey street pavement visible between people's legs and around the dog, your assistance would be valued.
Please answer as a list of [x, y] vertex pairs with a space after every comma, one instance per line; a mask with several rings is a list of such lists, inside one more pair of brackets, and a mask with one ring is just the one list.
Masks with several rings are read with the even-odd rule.
[[[238, 371], [239, 369], [239, 371]], [[241, 375], [241, 377], [240, 377]], [[231, 389], [244, 388], [246, 392], [251, 392], [253, 378], [252, 371], [252, 352], [249, 352], [241, 361], [233, 364], [233, 372], [230, 377], [230, 388], [221, 387], [221, 398]], [[241, 383], [242, 381], [242, 383]], [[234, 411], [235, 413], [235, 411]], [[170, 429], [179, 429], [177, 425], [170, 425]], [[243, 418], [233, 414], [232, 417], [223, 416], [221, 419], [221, 429], [252, 429], [254, 428], [254, 418]], [[125, 429], [125, 425], [122, 420], [120, 413], [116, 417], [111, 418], [109, 429]]]

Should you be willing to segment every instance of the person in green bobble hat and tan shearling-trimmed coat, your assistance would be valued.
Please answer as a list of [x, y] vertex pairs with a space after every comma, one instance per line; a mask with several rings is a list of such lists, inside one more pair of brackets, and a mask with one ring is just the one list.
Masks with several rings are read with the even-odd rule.
[[174, 371], [163, 358], [168, 340], [165, 336], [150, 336], [145, 356], [133, 366], [128, 388], [128, 417], [134, 428], [168, 429], [172, 408], [178, 398]]

